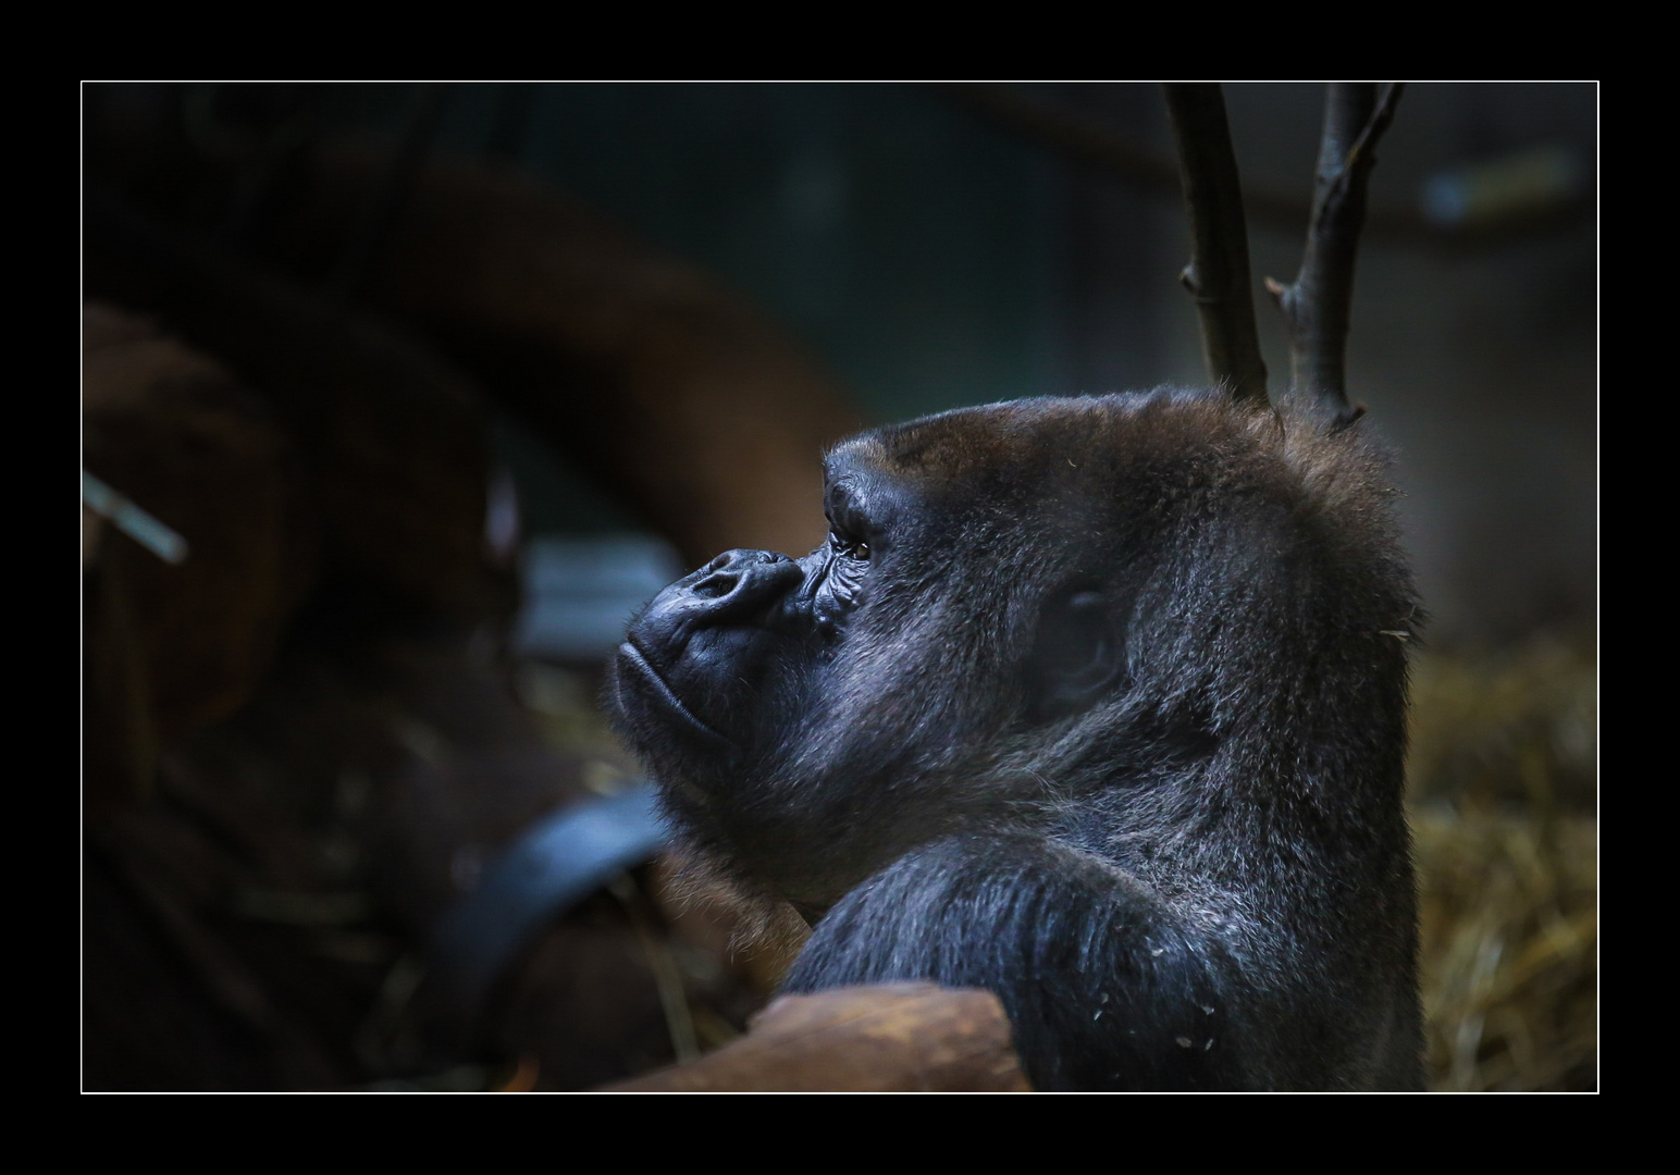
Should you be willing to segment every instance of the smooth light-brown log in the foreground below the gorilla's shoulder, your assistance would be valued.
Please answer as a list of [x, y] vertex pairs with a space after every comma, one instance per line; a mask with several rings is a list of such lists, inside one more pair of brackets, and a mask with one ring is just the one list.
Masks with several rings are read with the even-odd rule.
[[610, 1093], [1028, 1093], [991, 992], [932, 983], [785, 995], [743, 1039]]

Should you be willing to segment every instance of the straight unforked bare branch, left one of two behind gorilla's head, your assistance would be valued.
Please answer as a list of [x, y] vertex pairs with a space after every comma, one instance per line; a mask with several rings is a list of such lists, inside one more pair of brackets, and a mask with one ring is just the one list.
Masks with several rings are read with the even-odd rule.
[[1208, 371], [1235, 400], [1265, 405], [1265, 360], [1248, 287], [1248, 225], [1225, 96], [1216, 84], [1173, 82], [1163, 89], [1178, 140], [1193, 242], [1179, 281], [1201, 314]]

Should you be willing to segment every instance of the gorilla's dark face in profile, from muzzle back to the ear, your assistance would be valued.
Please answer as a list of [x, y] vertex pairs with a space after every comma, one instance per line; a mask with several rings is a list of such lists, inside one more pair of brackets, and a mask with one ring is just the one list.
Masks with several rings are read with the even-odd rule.
[[822, 906], [1037, 787], [986, 780], [1124, 664], [1112, 496], [1067, 493], [1112, 461], [1065, 405], [845, 442], [822, 546], [719, 555], [630, 625], [610, 696], [692, 840]]

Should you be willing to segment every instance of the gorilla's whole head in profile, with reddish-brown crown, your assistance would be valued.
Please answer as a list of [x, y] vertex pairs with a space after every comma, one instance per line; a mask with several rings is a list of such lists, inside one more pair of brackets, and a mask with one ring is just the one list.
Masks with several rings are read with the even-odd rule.
[[719, 555], [630, 625], [620, 730], [697, 849], [806, 911], [964, 830], [1171, 857], [1233, 787], [1403, 745], [1379, 472], [1178, 390], [865, 432], [822, 546]]

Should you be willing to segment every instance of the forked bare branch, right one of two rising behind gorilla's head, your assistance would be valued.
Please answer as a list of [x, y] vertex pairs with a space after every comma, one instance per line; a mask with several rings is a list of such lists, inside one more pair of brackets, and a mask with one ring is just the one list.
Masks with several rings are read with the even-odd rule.
[[1401, 89], [1399, 82], [1389, 82], [1379, 96], [1374, 82], [1331, 86], [1300, 274], [1290, 286], [1265, 281], [1289, 328], [1295, 392], [1319, 397], [1347, 420], [1362, 412], [1347, 403], [1346, 371], [1359, 229], [1376, 145], [1394, 118]]

